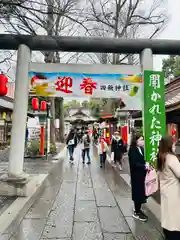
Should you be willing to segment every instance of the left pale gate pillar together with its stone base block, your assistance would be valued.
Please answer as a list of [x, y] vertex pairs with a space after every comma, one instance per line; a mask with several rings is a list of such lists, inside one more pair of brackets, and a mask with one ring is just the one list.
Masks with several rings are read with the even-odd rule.
[[8, 174], [0, 179], [0, 195], [4, 196], [27, 196], [32, 185], [29, 175], [23, 173], [30, 60], [30, 49], [24, 44], [20, 45], [17, 55]]

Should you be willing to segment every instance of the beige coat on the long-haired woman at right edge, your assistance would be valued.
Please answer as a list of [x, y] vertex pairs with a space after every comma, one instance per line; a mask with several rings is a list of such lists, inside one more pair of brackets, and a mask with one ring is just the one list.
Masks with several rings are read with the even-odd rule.
[[161, 225], [169, 231], [180, 231], [180, 162], [172, 154], [166, 157], [159, 173], [161, 191]]

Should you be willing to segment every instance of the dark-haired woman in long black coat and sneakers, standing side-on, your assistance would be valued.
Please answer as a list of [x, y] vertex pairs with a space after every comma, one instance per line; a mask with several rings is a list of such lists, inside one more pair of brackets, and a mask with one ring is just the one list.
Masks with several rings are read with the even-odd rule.
[[144, 160], [144, 138], [134, 135], [129, 148], [129, 166], [131, 174], [132, 200], [135, 211], [133, 217], [141, 221], [147, 221], [147, 216], [142, 212], [141, 206], [146, 203], [145, 177], [146, 162]]

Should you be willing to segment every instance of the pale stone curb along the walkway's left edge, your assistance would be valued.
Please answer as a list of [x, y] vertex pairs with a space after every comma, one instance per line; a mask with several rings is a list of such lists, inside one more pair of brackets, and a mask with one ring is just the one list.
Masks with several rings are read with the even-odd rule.
[[[6, 233], [6, 230], [13, 224], [13, 228], [16, 228], [28, 212], [29, 208], [36, 201], [37, 197], [41, 195], [44, 190], [48, 177], [53, 174], [57, 166], [63, 160], [63, 154], [66, 153], [66, 148], [62, 148], [58, 154], [58, 160], [55, 161], [48, 174], [39, 174], [34, 178], [38, 182], [32, 193], [28, 197], [18, 197], [0, 216], [0, 236]], [[56, 158], [57, 159], [57, 158]]]

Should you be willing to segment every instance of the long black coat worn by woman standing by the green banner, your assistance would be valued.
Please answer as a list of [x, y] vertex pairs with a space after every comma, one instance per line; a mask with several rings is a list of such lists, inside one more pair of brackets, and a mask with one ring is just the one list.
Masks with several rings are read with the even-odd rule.
[[143, 148], [141, 148], [141, 152], [136, 146], [131, 146], [128, 152], [128, 156], [131, 173], [132, 200], [134, 202], [145, 203], [146, 163], [144, 160]]

